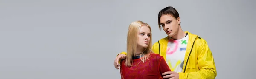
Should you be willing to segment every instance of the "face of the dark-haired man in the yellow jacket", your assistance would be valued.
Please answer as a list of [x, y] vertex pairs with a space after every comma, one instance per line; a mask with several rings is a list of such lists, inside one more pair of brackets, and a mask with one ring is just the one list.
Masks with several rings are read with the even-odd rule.
[[180, 17], [177, 19], [170, 15], [162, 15], [160, 17], [160, 25], [169, 37], [177, 34], [180, 24]]

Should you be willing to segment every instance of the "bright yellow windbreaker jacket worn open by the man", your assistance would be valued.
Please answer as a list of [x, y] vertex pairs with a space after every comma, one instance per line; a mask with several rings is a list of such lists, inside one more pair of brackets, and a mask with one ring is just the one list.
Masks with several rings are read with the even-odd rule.
[[[217, 71], [215, 62], [207, 42], [186, 31], [189, 40], [186, 48], [183, 71], [179, 73], [179, 79], [215, 79]], [[166, 50], [169, 37], [162, 38], [154, 43], [152, 51], [166, 59]], [[126, 54], [121, 52], [120, 54]]]

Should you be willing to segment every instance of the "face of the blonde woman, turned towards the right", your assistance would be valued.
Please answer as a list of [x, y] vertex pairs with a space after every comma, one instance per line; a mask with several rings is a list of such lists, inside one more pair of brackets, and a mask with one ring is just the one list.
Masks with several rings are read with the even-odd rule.
[[148, 26], [142, 25], [139, 30], [137, 45], [147, 48], [150, 41], [151, 32]]

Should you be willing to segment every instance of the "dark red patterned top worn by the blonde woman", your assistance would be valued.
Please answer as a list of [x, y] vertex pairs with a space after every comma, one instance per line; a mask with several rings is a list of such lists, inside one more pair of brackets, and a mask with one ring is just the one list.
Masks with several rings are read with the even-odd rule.
[[[148, 60], [149, 59], [149, 60]], [[134, 59], [131, 67], [125, 66], [125, 59], [120, 62], [122, 79], [163, 79], [162, 73], [171, 71], [163, 56], [150, 54], [145, 63]], [[140, 62], [141, 61], [141, 62]]]

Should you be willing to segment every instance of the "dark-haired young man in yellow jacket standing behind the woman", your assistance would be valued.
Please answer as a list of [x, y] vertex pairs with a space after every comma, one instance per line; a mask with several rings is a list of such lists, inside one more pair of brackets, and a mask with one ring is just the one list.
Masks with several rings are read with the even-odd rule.
[[[198, 35], [183, 31], [180, 27], [179, 13], [173, 7], [163, 8], [158, 14], [158, 25], [168, 35], [154, 43], [152, 51], [166, 59], [171, 72], [163, 73], [167, 79], [214, 79], [217, 76], [215, 62], [207, 42]], [[118, 69], [120, 53], [114, 62]]]

